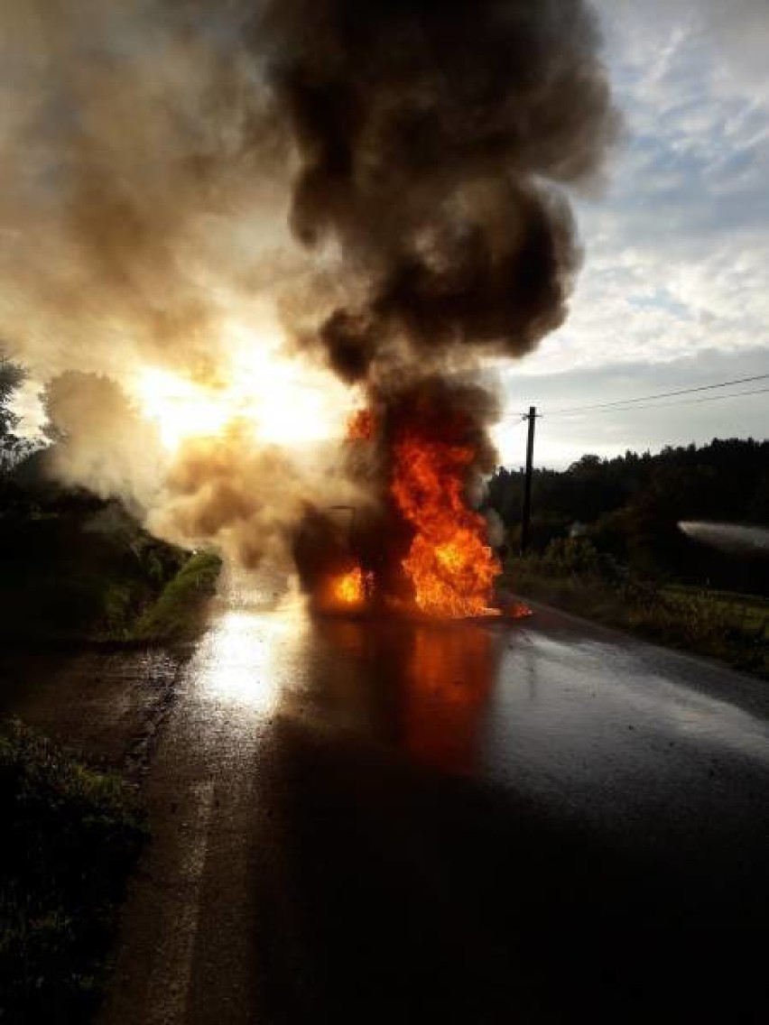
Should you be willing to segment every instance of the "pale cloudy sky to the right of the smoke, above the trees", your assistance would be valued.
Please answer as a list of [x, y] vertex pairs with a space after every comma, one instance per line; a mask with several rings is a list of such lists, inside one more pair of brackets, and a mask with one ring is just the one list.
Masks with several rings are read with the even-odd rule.
[[769, 393], [562, 412], [769, 373], [769, 3], [597, 6], [624, 133], [602, 187], [572, 197], [584, 263], [566, 324], [503, 372], [509, 466], [530, 405], [536, 461], [555, 467], [769, 435]]

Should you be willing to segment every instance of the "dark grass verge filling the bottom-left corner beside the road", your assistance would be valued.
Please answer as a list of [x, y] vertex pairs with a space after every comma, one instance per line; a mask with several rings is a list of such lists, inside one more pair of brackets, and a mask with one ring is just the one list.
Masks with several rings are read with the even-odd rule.
[[144, 837], [133, 788], [0, 729], [0, 1019], [82, 1021]]

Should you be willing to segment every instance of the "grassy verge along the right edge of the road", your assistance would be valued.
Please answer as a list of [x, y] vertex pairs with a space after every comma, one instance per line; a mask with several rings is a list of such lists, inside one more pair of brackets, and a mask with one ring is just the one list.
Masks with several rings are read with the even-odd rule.
[[769, 603], [761, 598], [638, 581], [595, 573], [558, 573], [535, 557], [517, 560], [503, 585], [595, 619], [769, 680]]

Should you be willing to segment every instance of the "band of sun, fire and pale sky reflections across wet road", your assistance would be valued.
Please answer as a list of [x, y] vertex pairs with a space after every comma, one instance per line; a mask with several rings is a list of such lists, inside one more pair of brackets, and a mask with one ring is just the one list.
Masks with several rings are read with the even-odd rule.
[[190, 675], [233, 734], [281, 717], [352, 732], [622, 831], [652, 813], [688, 828], [671, 785], [692, 809], [739, 817], [727, 779], [766, 769], [765, 723], [695, 690], [703, 666], [560, 620], [551, 629], [543, 613], [313, 617], [285, 587], [228, 581]]

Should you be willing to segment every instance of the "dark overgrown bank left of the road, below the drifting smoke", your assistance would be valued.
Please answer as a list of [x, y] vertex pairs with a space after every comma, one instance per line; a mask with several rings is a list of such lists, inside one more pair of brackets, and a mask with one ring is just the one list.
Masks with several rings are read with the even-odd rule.
[[36, 469], [41, 455], [0, 475], [0, 643], [193, 636], [218, 558], [153, 537], [116, 500], [51, 483]]

